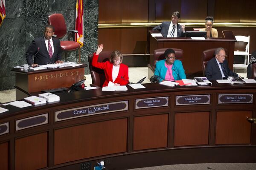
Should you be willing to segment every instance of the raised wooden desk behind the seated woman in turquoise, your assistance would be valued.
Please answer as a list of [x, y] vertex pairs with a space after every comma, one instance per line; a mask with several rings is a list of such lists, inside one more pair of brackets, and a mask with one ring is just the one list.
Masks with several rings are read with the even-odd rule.
[[[159, 31], [149, 31], [160, 33]], [[206, 40], [192, 40], [190, 37], [165, 38], [150, 36], [150, 61], [148, 77], [154, 75], [154, 50], [159, 48], [180, 48], [183, 50], [182, 64], [188, 76], [202, 76], [202, 52], [210, 48], [226, 48], [229, 68], [233, 69], [234, 48], [236, 38], [232, 31], [223, 31], [225, 38], [207, 38]]]

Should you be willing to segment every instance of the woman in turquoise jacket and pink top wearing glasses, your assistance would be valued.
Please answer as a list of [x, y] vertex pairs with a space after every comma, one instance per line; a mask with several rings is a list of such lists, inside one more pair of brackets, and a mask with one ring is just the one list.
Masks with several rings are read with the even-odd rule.
[[164, 56], [166, 59], [156, 63], [154, 72], [154, 75], [160, 77], [160, 82], [186, 79], [182, 62], [175, 59], [175, 51], [169, 48], [164, 52]]

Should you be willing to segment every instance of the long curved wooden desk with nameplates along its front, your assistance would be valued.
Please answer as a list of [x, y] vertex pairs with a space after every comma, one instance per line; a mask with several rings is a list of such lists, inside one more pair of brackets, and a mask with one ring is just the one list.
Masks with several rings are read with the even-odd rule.
[[[256, 162], [256, 85], [76, 91], [0, 114], [1, 170]], [[195, 104], [195, 105], [188, 105]], [[157, 106], [157, 107], [155, 107]]]

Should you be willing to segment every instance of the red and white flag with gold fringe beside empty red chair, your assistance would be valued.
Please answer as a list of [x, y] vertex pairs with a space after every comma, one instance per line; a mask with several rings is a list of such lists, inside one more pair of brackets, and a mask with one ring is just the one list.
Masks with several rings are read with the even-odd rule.
[[84, 45], [84, 7], [83, 0], [76, 0], [76, 42], [80, 47]]

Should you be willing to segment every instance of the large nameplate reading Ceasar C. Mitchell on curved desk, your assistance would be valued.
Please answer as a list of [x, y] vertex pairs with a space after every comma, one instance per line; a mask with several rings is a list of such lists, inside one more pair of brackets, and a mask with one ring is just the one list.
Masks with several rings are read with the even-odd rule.
[[104, 103], [99, 105], [90, 105], [80, 108], [71, 108], [62, 111], [55, 112], [55, 122], [74, 119], [83, 116], [111, 113], [117, 111], [127, 111], [128, 110], [128, 100], [120, 102]]

